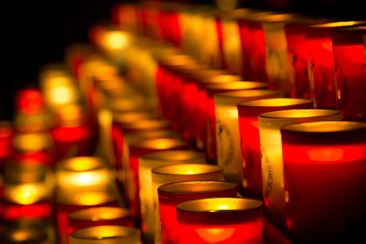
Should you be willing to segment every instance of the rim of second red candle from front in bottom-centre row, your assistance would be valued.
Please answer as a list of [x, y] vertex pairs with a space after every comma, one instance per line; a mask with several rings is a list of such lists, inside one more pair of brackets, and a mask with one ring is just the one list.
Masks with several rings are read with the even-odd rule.
[[[208, 191], [172, 191], [170, 190], [169, 191], [169, 188], [173, 187], [174, 186], [180, 186], [180, 185], [188, 185], [188, 184], [197, 184], [197, 183], [217, 183], [217, 185], [221, 186], [223, 185], [222, 188], [220, 189], [217, 189], [217, 190], [208, 190]], [[222, 183], [222, 184], [220, 184]], [[228, 189], [233, 189], [237, 186], [237, 184], [235, 182], [232, 182], [232, 181], [218, 181], [218, 180], [198, 180], [198, 181], [180, 181], [180, 182], [173, 182], [173, 183], [168, 183], [168, 184], [164, 184], [164, 185], [161, 185], [157, 188], [158, 192], [166, 192], [166, 193], [172, 193], [172, 194], [199, 194], [199, 193], [204, 193], [204, 192], [220, 192], [220, 191], [225, 191], [225, 190], [228, 190]], [[165, 188], [168, 188], [168, 189], [165, 189]]]

